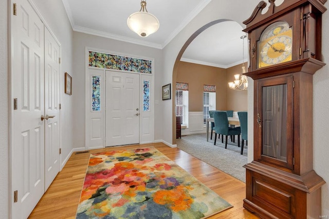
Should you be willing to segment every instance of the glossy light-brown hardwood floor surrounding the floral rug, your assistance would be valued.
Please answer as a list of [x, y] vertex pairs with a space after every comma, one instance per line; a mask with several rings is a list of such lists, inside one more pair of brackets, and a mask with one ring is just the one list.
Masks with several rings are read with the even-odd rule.
[[[233, 208], [209, 218], [259, 218], [245, 210], [242, 206], [246, 194], [244, 182], [177, 148], [170, 148], [163, 143], [142, 144], [142, 147], [145, 146], [154, 146], [233, 205]], [[139, 145], [129, 145], [120, 148], [136, 147], [139, 147]], [[89, 154], [111, 151], [115, 148], [118, 147], [91, 150], [89, 153], [72, 154], [29, 218], [75, 218]]]

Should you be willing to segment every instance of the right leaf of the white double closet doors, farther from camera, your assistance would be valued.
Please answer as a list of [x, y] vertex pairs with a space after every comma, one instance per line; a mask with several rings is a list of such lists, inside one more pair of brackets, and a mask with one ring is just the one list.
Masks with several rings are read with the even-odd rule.
[[45, 190], [60, 171], [60, 47], [45, 28]]

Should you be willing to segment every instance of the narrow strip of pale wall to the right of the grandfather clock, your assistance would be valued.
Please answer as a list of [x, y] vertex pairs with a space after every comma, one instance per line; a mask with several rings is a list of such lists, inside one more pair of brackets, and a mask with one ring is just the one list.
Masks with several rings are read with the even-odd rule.
[[[329, 8], [329, 2], [324, 4]], [[314, 170], [326, 184], [322, 186], [322, 215], [329, 215], [329, 11], [322, 16], [322, 54], [326, 65], [313, 76], [313, 148]], [[248, 142], [249, 143], [249, 142]]]

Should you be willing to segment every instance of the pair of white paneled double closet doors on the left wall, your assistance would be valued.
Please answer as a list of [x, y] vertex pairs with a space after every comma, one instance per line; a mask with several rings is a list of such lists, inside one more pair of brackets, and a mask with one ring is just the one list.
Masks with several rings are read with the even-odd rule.
[[16, 14], [11, 14], [11, 218], [27, 218], [60, 167], [59, 45], [28, 0], [15, 4]]

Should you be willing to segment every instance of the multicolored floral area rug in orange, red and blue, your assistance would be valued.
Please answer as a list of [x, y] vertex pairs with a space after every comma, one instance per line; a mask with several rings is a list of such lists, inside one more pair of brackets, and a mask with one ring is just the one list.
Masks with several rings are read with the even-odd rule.
[[232, 206], [153, 147], [91, 154], [76, 218], [204, 218]]

